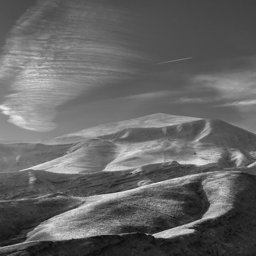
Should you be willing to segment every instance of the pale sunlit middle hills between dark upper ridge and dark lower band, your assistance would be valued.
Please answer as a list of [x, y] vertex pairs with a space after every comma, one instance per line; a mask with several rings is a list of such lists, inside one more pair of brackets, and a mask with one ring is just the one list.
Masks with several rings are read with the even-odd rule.
[[171, 139], [140, 143], [96, 139], [74, 147], [76, 150], [70, 151], [72, 153], [32, 166], [31, 169], [59, 173], [92, 173], [129, 170], [173, 160], [181, 164], [211, 164], [224, 168], [246, 167], [256, 161], [255, 151]]

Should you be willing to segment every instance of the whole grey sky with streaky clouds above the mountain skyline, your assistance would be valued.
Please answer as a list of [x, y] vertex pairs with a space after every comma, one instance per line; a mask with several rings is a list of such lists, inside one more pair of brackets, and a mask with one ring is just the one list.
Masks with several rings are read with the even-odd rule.
[[1, 0], [0, 140], [158, 112], [256, 133], [255, 8], [254, 0]]

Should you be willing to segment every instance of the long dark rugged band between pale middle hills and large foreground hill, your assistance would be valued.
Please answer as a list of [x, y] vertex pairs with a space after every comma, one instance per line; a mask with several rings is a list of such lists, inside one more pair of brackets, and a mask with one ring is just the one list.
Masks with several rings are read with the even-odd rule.
[[[246, 170], [248, 168], [245, 168]], [[25, 170], [0, 174], [0, 199], [21, 199], [62, 192], [72, 196], [106, 194], [206, 171], [218, 166], [180, 165], [177, 162], [145, 165], [128, 171], [63, 174]]]

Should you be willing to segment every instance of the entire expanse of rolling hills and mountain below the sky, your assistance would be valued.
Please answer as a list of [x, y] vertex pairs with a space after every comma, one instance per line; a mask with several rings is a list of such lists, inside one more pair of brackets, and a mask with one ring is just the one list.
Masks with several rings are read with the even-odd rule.
[[256, 254], [256, 134], [224, 121], [154, 114], [0, 157], [0, 255]]

